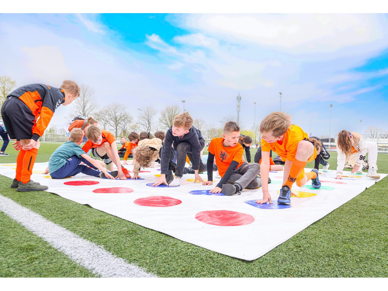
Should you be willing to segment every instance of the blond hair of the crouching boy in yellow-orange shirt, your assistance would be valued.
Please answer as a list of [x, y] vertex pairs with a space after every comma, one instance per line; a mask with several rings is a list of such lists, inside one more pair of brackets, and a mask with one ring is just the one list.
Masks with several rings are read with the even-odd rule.
[[260, 132], [271, 133], [274, 137], [280, 137], [291, 125], [290, 116], [286, 113], [277, 111], [265, 116], [260, 123]]

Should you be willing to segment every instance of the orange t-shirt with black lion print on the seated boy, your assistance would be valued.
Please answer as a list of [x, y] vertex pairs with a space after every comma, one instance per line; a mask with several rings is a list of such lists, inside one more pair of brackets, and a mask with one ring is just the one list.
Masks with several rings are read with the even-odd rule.
[[232, 161], [237, 161], [239, 166], [244, 163], [242, 161], [242, 154], [244, 153], [244, 148], [241, 144], [237, 143], [234, 147], [225, 147], [223, 145], [223, 137], [216, 137], [210, 141], [208, 152], [214, 154], [215, 162], [218, 167], [218, 173], [223, 177], [226, 170], [229, 168]]

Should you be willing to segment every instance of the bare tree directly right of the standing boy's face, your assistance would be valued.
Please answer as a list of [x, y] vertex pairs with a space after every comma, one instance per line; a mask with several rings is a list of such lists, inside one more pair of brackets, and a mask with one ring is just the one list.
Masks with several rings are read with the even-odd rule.
[[74, 116], [94, 116], [98, 110], [98, 106], [94, 100], [94, 90], [88, 85], [81, 85], [80, 97], [74, 100], [72, 110], [69, 113], [68, 118], [73, 119]]

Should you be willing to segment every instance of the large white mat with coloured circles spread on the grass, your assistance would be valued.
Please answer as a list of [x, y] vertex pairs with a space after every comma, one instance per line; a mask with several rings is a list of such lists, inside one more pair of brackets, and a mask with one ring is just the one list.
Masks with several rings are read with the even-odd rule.
[[[280, 208], [276, 201], [279, 196], [277, 191], [281, 188], [282, 171], [270, 172], [272, 183], [268, 186], [274, 204], [258, 206], [254, 201], [262, 198], [261, 189], [245, 189], [241, 195], [233, 196], [190, 193], [196, 190], [206, 192], [204, 190], [215, 187], [220, 180], [217, 178], [213, 178], [217, 180], [213, 185], [203, 186], [200, 183], [188, 182], [186, 179], [194, 178], [194, 175], [187, 174], [182, 178], [179, 187], [147, 186], [146, 184], [158, 179], [154, 175], [160, 174], [159, 166], [146, 169], [150, 172], [140, 173], [144, 180], [108, 180], [83, 174], [55, 180], [39, 173], [46, 166], [47, 163], [36, 163], [31, 178], [42, 185], [48, 185], [48, 192], [88, 204], [95, 209], [164, 232], [182, 241], [243, 260], [259, 258], [376, 183], [376, 180], [366, 177], [366, 173], [336, 180], [335, 171], [329, 171], [319, 175], [322, 181], [321, 189], [309, 189], [311, 182], [307, 187], [300, 188], [295, 184], [293, 186], [293, 192], [302, 191], [316, 195], [303, 197], [311, 194], [295, 192], [301, 197], [292, 197], [291, 207]], [[15, 167], [16, 164], [1, 165], [0, 174], [14, 178]], [[132, 167], [126, 166], [128, 170], [132, 170]], [[350, 172], [346, 173], [351, 175]], [[386, 174], [380, 175], [381, 178], [386, 177]], [[207, 178], [206, 173], [201, 176]], [[99, 184], [67, 185], [68, 182], [76, 181]], [[96, 191], [102, 188], [103, 190]], [[106, 193], [109, 192], [106, 188], [113, 188], [116, 193]], [[132, 189], [133, 192], [126, 188]], [[28, 192], [20, 193], [28, 195]], [[253, 203], [249, 204], [252, 201]]]

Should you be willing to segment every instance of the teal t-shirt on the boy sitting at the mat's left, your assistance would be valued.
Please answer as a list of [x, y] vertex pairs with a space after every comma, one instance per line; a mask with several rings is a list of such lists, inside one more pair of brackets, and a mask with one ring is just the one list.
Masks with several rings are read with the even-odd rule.
[[65, 142], [51, 154], [49, 159], [49, 172], [52, 173], [61, 168], [71, 156], [81, 158], [81, 154], [85, 154], [85, 151], [78, 144]]

